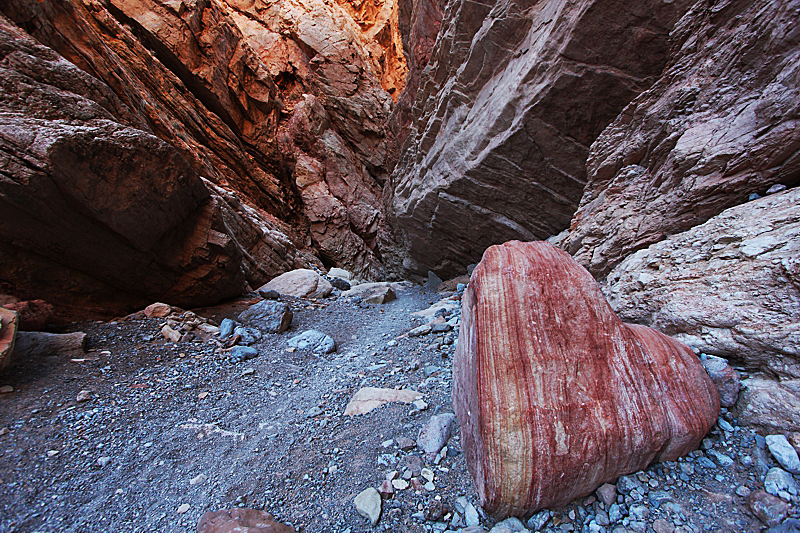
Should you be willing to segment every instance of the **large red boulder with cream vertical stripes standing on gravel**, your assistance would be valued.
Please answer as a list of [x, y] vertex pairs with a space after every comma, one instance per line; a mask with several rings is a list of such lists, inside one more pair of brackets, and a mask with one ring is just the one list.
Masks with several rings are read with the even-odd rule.
[[505, 517], [696, 449], [719, 399], [689, 348], [623, 324], [566, 253], [514, 241], [464, 293], [453, 406], [481, 505]]

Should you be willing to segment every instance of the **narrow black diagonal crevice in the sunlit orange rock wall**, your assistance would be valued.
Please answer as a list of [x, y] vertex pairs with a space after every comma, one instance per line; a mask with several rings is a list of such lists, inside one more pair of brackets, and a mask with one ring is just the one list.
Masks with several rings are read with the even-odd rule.
[[219, 98], [205, 86], [203, 81], [198, 78], [180, 59], [175, 57], [172, 51], [164, 46], [164, 44], [157, 38], [144, 29], [136, 20], [128, 17], [125, 13], [120, 11], [115, 5], [109, 3], [106, 8], [109, 13], [117, 19], [120, 24], [127, 26], [131, 33], [133, 33], [142, 45], [150, 50], [153, 55], [178, 79], [180, 79], [186, 88], [208, 109], [211, 113], [217, 115], [222, 122], [224, 122], [233, 133], [241, 138], [241, 131], [236, 121], [230, 116], [225, 106], [219, 101]]

